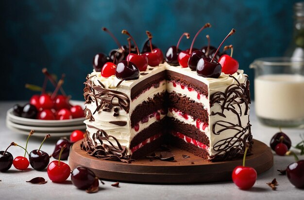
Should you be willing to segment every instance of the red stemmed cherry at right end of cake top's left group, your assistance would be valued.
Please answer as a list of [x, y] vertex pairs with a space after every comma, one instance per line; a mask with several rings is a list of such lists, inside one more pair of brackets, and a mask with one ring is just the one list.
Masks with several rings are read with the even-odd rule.
[[162, 50], [159, 48], [152, 47], [152, 34], [150, 31], [146, 31], [146, 34], [148, 35], [148, 38], [150, 40], [150, 52], [144, 53], [148, 57], [148, 64], [152, 67], [158, 66], [160, 63], [163, 63], [164, 61], [164, 55]]

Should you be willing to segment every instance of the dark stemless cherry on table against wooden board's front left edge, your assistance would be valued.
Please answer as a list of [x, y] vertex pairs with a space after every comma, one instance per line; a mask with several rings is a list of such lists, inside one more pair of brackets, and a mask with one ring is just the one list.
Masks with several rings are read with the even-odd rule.
[[93, 184], [95, 177], [94, 172], [85, 167], [75, 168], [71, 173], [72, 184], [78, 189], [89, 188]]

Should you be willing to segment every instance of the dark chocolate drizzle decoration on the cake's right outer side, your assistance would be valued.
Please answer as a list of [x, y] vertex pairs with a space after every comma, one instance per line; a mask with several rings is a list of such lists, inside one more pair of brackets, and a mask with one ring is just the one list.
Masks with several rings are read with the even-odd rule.
[[[229, 75], [236, 80], [236, 84], [228, 86], [225, 92], [215, 92], [210, 96], [210, 107], [220, 105], [220, 112], [211, 112], [210, 116], [219, 115], [226, 118], [225, 111], [230, 111], [237, 119], [237, 123], [231, 123], [220, 120], [213, 124], [212, 133], [215, 135], [224, 134], [227, 130], [232, 130], [235, 135], [230, 138], [224, 138], [213, 145], [217, 154], [210, 156], [211, 161], [222, 161], [238, 157], [244, 154], [246, 143], [249, 143], [249, 152], [252, 151], [253, 140], [251, 135], [251, 124], [249, 122], [249, 104], [250, 91], [249, 80], [240, 83], [235, 77]], [[245, 108], [242, 112], [242, 107]], [[242, 124], [241, 116], [248, 115], [248, 123]], [[217, 130], [217, 131], [216, 131]]]

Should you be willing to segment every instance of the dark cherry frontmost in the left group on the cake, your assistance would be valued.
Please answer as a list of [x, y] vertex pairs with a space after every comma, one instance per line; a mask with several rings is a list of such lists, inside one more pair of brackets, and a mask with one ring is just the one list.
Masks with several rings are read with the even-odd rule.
[[118, 62], [116, 67], [116, 77], [124, 80], [135, 80], [139, 78], [139, 70], [131, 61]]

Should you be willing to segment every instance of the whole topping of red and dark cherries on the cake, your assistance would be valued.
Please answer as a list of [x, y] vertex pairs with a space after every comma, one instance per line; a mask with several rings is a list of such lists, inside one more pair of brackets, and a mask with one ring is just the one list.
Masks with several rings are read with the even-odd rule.
[[[235, 33], [232, 29], [224, 38], [218, 48], [210, 46], [210, 37], [207, 35], [208, 46], [203, 46], [202, 50], [194, 48], [194, 42], [201, 31], [205, 28], [210, 28], [211, 24], [206, 23], [194, 36], [189, 49], [182, 51], [178, 48], [181, 39], [186, 35], [189, 38], [189, 33], [185, 32], [180, 37], [177, 46], [170, 46], [166, 52], [166, 62], [172, 66], [180, 65], [182, 68], [189, 67], [192, 71], [196, 71], [198, 76], [208, 78], [218, 78], [223, 72], [225, 74], [234, 74], [238, 70], [238, 62], [232, 58], [233, 46], [225, 46], [224, 51], [220, 53], [220, 47], [224, 41]], [[122, 46], [112, 32], [106, 28], [102, 28], [114, 39], [118, 45], [118, 49], [113, 49], [109, 52], [109, 56], [105, 54], [97, 54], [93, 59], [93, 67], [96, 72], [101, 72], [102, 77], [116, 76], [122, 80], [135, 80], [139, 78], [140, 72], [147, 70], [148, 66], [155, 67], [163, 63], [164, 56], [161, 49], [152, 44], [152, 34], [146, 31], [148, 40], [144, 43], [142, 53], [127, 30], [122, 30], [122, 34], [129, 36], [128, 46]], [[131, 40], [134, 46], [131, 45]], [[150, 49], [149, 49], [150, 47]], [[227, 55], [225, 50], [231, 49], [231, 55]]]

